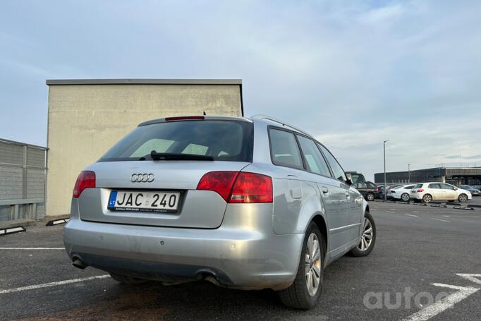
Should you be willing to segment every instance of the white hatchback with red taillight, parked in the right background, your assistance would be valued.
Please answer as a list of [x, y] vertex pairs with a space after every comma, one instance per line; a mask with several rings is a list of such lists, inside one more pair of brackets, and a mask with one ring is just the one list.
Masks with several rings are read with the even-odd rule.
[[468, 190], [457, 188], [451, 184], [432, 182], [416, 185], [410, 192], [410, 198], [422, 200], [425, 203], [432, 200], [468, 202], [473, 196]]

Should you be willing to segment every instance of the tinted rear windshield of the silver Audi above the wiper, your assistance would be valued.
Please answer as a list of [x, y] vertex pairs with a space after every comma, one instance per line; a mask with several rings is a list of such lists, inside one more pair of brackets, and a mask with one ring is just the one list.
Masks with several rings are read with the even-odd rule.
[[144, 160], [150, 152], [252, 162], [253, 126], [247, 121], [171, 121], [135, 128], [99, 162]]

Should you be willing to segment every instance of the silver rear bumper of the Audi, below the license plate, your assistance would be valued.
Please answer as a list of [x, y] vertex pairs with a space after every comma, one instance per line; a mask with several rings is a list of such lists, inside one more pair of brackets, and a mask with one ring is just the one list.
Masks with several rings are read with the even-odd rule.
[[[272, 225], [271, 225], [272, 226]], [[214, 277], [238, 289], [285, 289], [297, 273], [303, 234], [250, 229], [178, 229], [86, 222], [73, 217], [68, 256], [108, 272], [158, 281]]]

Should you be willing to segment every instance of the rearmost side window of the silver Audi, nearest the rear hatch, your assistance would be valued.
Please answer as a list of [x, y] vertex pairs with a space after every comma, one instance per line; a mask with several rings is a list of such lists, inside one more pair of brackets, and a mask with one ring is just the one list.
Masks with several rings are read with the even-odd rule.
[[269, 133], [274, 165], [303, 169], [303, 161], [300, 158], [298, 143], [294, 134], [274, 128], [270, 129]]

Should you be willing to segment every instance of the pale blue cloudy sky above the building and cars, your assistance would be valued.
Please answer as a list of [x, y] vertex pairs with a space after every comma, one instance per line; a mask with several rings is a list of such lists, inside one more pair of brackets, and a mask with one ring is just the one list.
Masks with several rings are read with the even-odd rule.
[[346, 170], [481, 166], [480, 1], [0, 2], [0, 138], [45, 145], [56, 78], [241, 78], [245, 114]]

